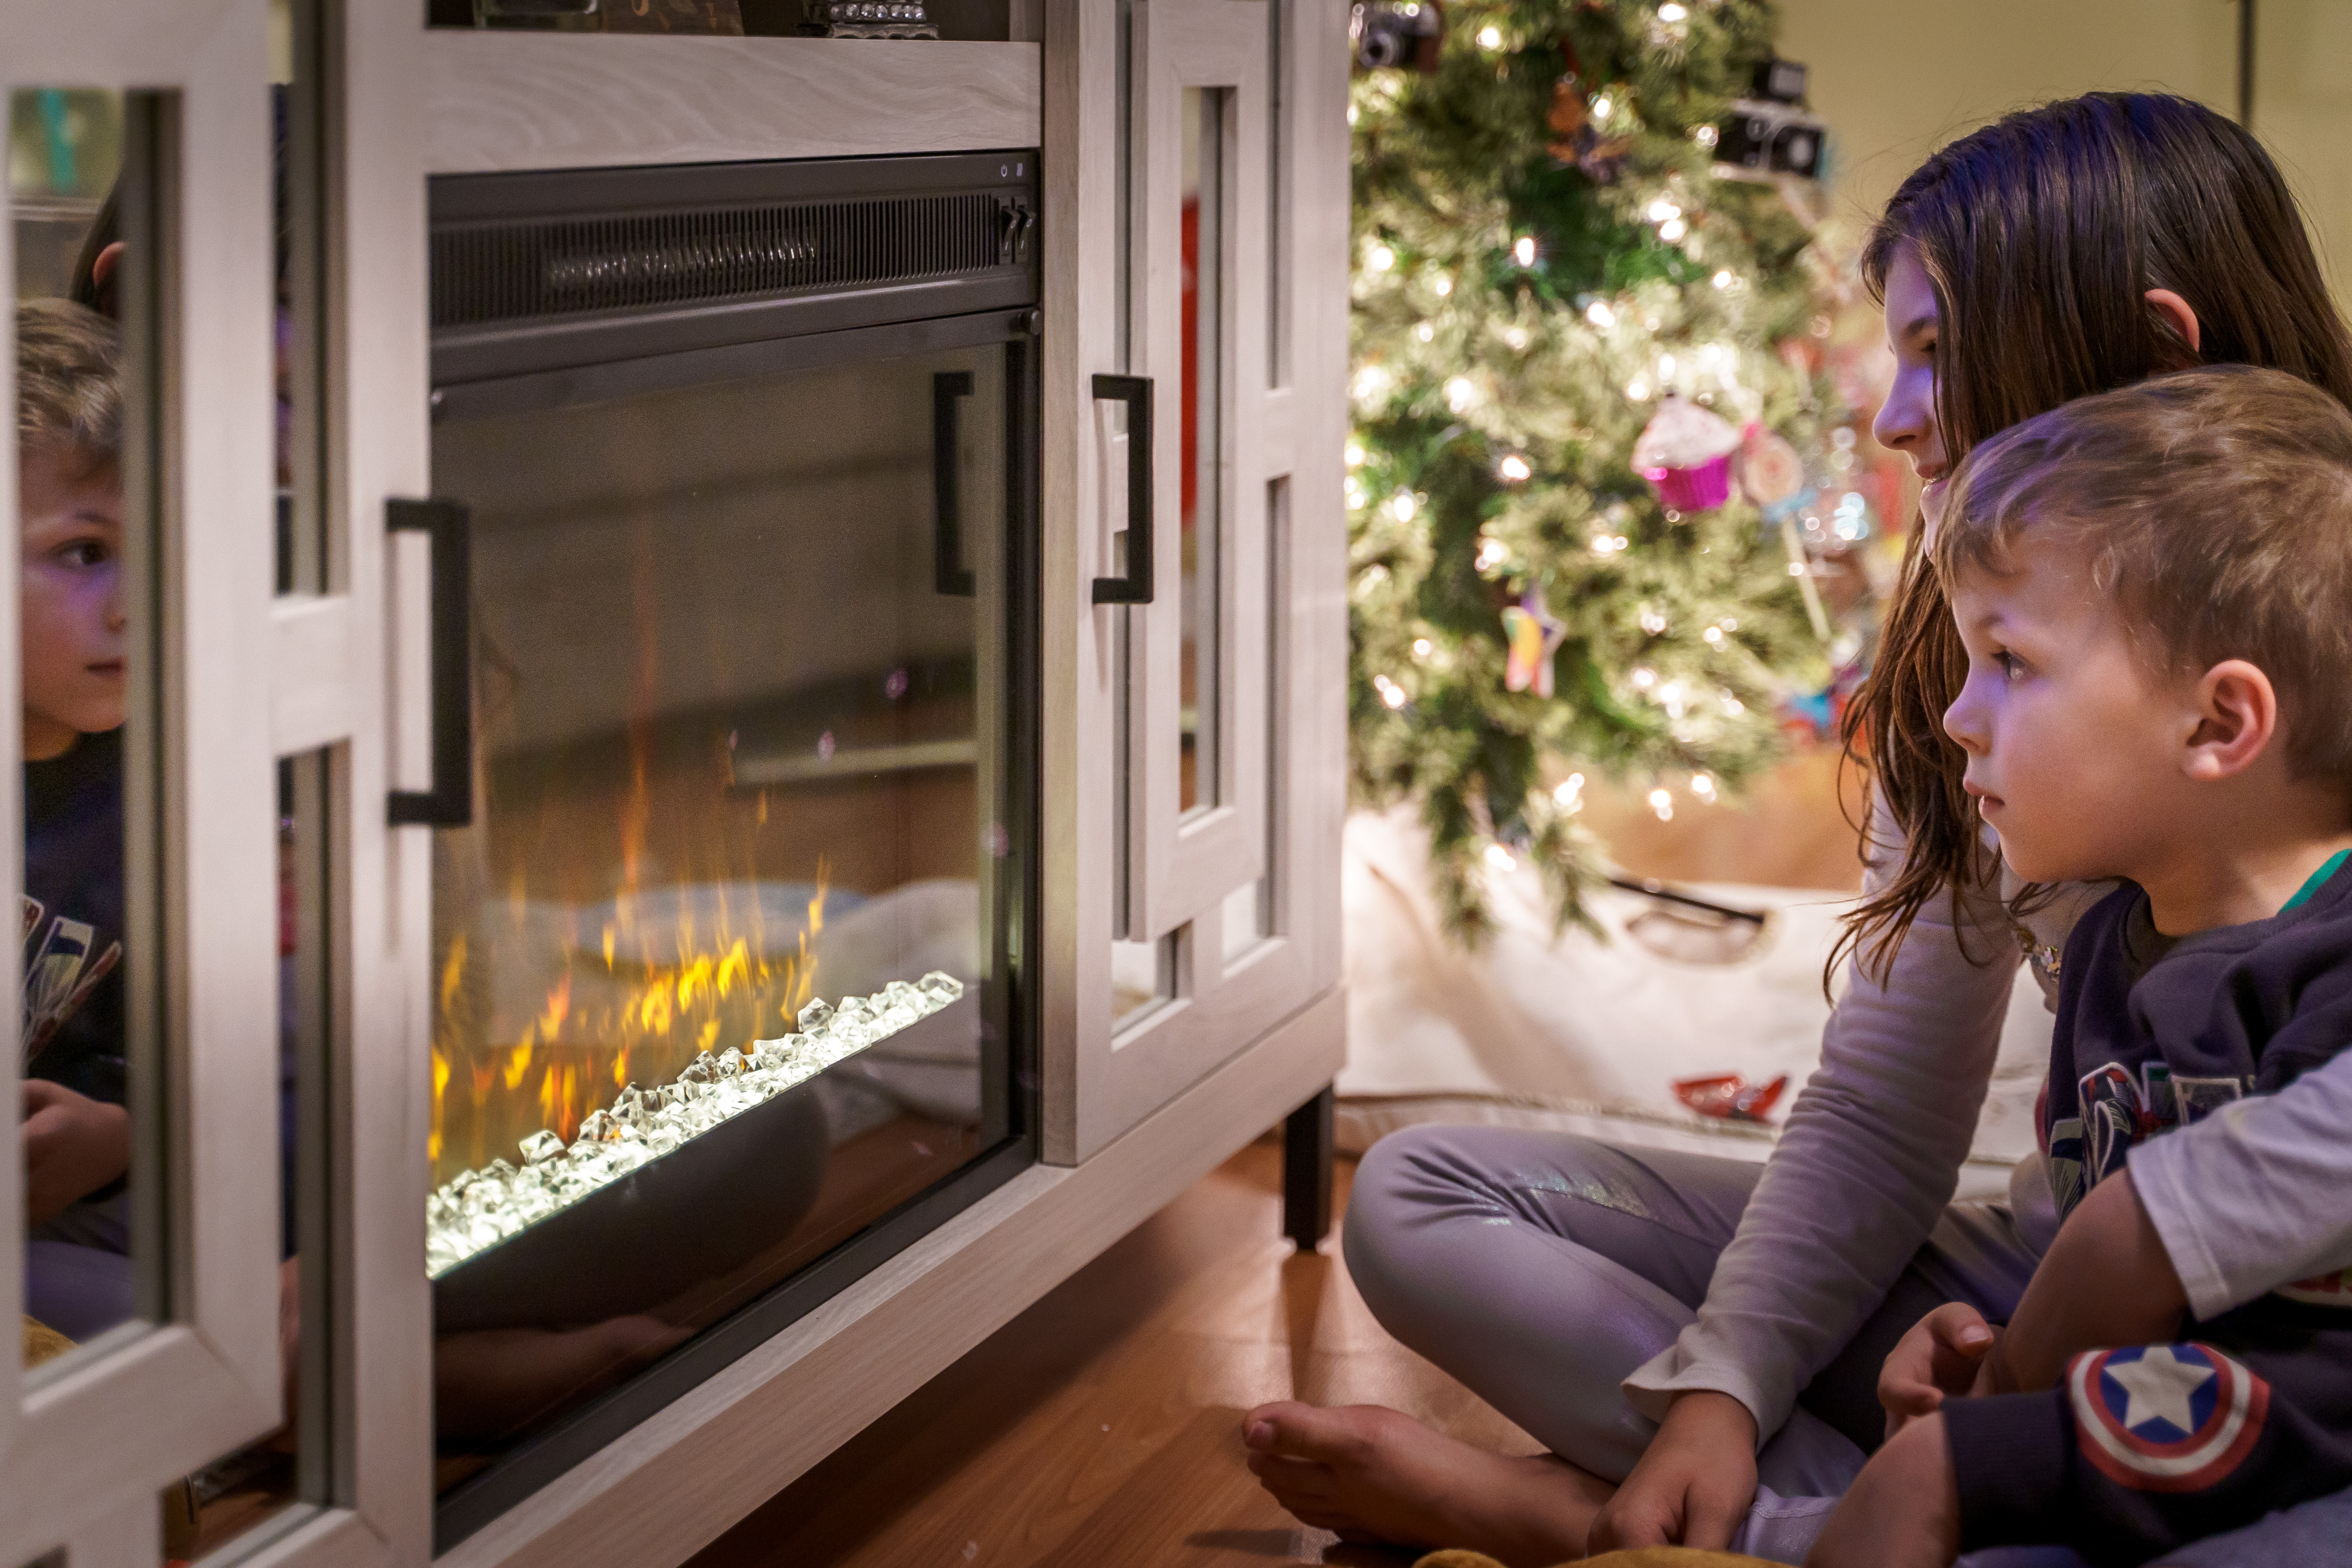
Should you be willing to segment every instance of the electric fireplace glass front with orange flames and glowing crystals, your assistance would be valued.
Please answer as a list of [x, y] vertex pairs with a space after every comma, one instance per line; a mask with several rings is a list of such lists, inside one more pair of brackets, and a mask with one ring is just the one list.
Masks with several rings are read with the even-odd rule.
[[1028, 346], [962, 336], [435, 423], [475, 726], [433, 846], [445, 1488], [1021, 1133]]

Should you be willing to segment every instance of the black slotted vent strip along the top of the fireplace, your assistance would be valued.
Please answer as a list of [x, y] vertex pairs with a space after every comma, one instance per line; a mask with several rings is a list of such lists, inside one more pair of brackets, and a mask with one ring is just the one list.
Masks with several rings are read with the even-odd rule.
[[433, 327], [677, 308], [1018, 268], [1021, 195], [903, 195], [437, 228]]

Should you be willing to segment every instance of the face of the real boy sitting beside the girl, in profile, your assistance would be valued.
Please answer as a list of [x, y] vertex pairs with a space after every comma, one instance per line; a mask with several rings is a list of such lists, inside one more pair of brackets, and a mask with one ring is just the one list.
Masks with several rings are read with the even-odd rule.
[[2136, 877], [2190, 804], [2197, 682], [2159, 679], [2063, 541], [2027, 534], [2004, 574], [1952, 583], [1969, 682], [1943, 729], [1966, 790], [2027, 882]]

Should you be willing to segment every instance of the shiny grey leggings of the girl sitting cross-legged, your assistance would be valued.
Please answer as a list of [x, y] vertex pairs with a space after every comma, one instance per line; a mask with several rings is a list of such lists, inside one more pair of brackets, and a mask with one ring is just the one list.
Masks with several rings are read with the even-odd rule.
[[[1623, 1481], [1656, 1422], [1618, 1385], [1698, 1314], [1759, 1173], [1748, 1161], [1621, 1150], [1573, 1133], [1406, 1128], [1357, 1166], [1348, 1274], [1397, 1340], [1559, 1458]], [[1884, 1436], [1877, 1380], [1886, 1352], [1943, 1302], [2006, 1321], [2034, 1262], [2004, 1204], [1945, 1208], [1879, 1309], [1757, 1453], [1759, 1505], [1736, 1544], [1802, 1556], [1825, 1516], [1818, 1500], [1837, 1497]], [[2173, 1561], [2256, 1563], [2253, 1537], [2307, 1509], [2333, 1509], [2331, 1528], [2303, 1521], [2310, 1535], [2345, 1540], [2352, 1502], [2331, 1497]], [[2206, 1552], [2241, 1537], [2246, 1552]], [[2343, 1556], [2300, 1561], [2352, 1563], [2352, 1547], [2336, 1549]], [[2265, 1547], [2260, 1561], [2274, 1568], [2279, 1559]]]

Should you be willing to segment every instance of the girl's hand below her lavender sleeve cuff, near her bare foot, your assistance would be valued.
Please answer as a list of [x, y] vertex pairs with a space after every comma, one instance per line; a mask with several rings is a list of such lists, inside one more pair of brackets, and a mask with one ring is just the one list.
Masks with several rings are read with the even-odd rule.
[[1625, 1486], [1602, 1505], [1585, 1552], [1722, 1552], [1757, 1500], [1757, 1418], [1731, 1394], [1691, 1389], [1658, 1422]]

